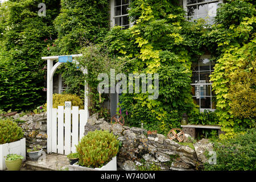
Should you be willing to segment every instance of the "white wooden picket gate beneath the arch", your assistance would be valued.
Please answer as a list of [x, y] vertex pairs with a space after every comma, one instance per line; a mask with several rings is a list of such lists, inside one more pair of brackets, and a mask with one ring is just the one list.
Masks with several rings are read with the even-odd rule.
[[72, 110], [64, 106], [52, 109], [52, 152], [65, 155], [76, 152], [75, 145], [84, 136], [87, 114], [78, 106]]

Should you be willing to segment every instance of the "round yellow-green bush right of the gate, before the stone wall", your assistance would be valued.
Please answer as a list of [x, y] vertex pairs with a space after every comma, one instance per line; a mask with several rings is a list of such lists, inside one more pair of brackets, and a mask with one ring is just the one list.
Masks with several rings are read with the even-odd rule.
[[117, 155], [119, 141], [109, 131], [90, 131], [76, 146], [79, 165], [101, 168]]

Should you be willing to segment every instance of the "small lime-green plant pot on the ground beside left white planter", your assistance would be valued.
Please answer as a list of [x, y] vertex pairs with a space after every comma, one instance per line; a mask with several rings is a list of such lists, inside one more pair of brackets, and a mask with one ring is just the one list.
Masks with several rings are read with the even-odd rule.
[[8, 154], [5, 159], [5, 165], [8, 171], [19, 171], [24, 157], [18, 154]]

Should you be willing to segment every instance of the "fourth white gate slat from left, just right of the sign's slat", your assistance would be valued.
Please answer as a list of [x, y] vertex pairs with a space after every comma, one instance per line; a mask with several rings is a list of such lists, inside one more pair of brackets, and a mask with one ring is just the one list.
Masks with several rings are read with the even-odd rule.
[[76, 152], [76, 146], [79, 142], [79, 107], [72, 107], [72, 152]]

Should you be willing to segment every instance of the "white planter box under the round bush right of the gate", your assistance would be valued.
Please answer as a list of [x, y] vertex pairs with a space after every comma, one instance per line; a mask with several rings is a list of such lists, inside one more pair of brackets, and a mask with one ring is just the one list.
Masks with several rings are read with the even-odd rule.
[[101, 168], [89, 168], [77, 165], [77, 163], [68, 166], [69, 171], [117, 171], [117, 156]]

